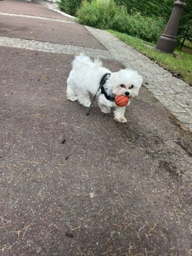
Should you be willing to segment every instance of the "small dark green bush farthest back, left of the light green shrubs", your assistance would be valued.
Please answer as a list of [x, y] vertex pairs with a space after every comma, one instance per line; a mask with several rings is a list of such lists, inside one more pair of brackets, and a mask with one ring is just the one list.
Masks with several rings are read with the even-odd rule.
[[76, 16], [76, 10], [81, 5], [81, 0], [58, 0], [57, 3], [61, 11]]

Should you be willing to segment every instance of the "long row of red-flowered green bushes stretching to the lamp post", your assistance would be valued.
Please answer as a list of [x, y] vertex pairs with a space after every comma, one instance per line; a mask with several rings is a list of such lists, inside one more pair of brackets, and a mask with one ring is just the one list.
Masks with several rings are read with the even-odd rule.
[[113, 0], [84, 0], [77, 10], [79, 23], [99, 29], [114, 29], [148, 42], [156, 42], [165, 27], [163, 17], [142, 16], [140, 12], [128, 13], [125, 6]]

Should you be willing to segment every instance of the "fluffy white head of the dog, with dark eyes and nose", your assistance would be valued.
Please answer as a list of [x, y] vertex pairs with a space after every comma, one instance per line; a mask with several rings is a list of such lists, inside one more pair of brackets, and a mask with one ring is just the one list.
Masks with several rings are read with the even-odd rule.
[[143, 79], [137, 71], [125, 69], [111, 74], [112, 90], [115, 95], [134, 98], [138, 96], [142, 82]]

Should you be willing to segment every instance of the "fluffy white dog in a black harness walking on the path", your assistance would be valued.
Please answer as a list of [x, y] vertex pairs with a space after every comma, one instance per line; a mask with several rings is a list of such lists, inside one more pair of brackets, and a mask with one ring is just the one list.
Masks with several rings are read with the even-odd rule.
[[[84, 107], [90, 107], [90, 95], [97, 93], [98, 105], [103, 113], [110, 113], [114, 107], [114, 119], [127, 122], [125, 107], [118, 107], [114, 102], [116, 95], [134, 98], [138, 95], [143, 79], [136, 71], [120, 70], [112, 73], [102, 67], [98, 58], [92, 61], [85, 55], [76, 56], [72, 63], [73, 69], [67, 79], [67, 99], [78, 100]], [[99, 85], [102, 88], [99, 89]], [[97, 90], [99, 91], [97, 92]], [[130, 101], [128, 102], [129, 105]]]

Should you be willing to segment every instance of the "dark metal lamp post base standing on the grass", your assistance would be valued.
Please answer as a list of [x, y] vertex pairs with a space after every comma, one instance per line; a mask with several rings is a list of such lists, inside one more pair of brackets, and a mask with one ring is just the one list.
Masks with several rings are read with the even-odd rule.
[[185, 0], [175, 1], [167, 26], [157, 42], [157, 50], [167, 53], [174, 52], [175, 46], [177, 44], [177, 32], [179, 29], [180, 17], [185, 6]]

